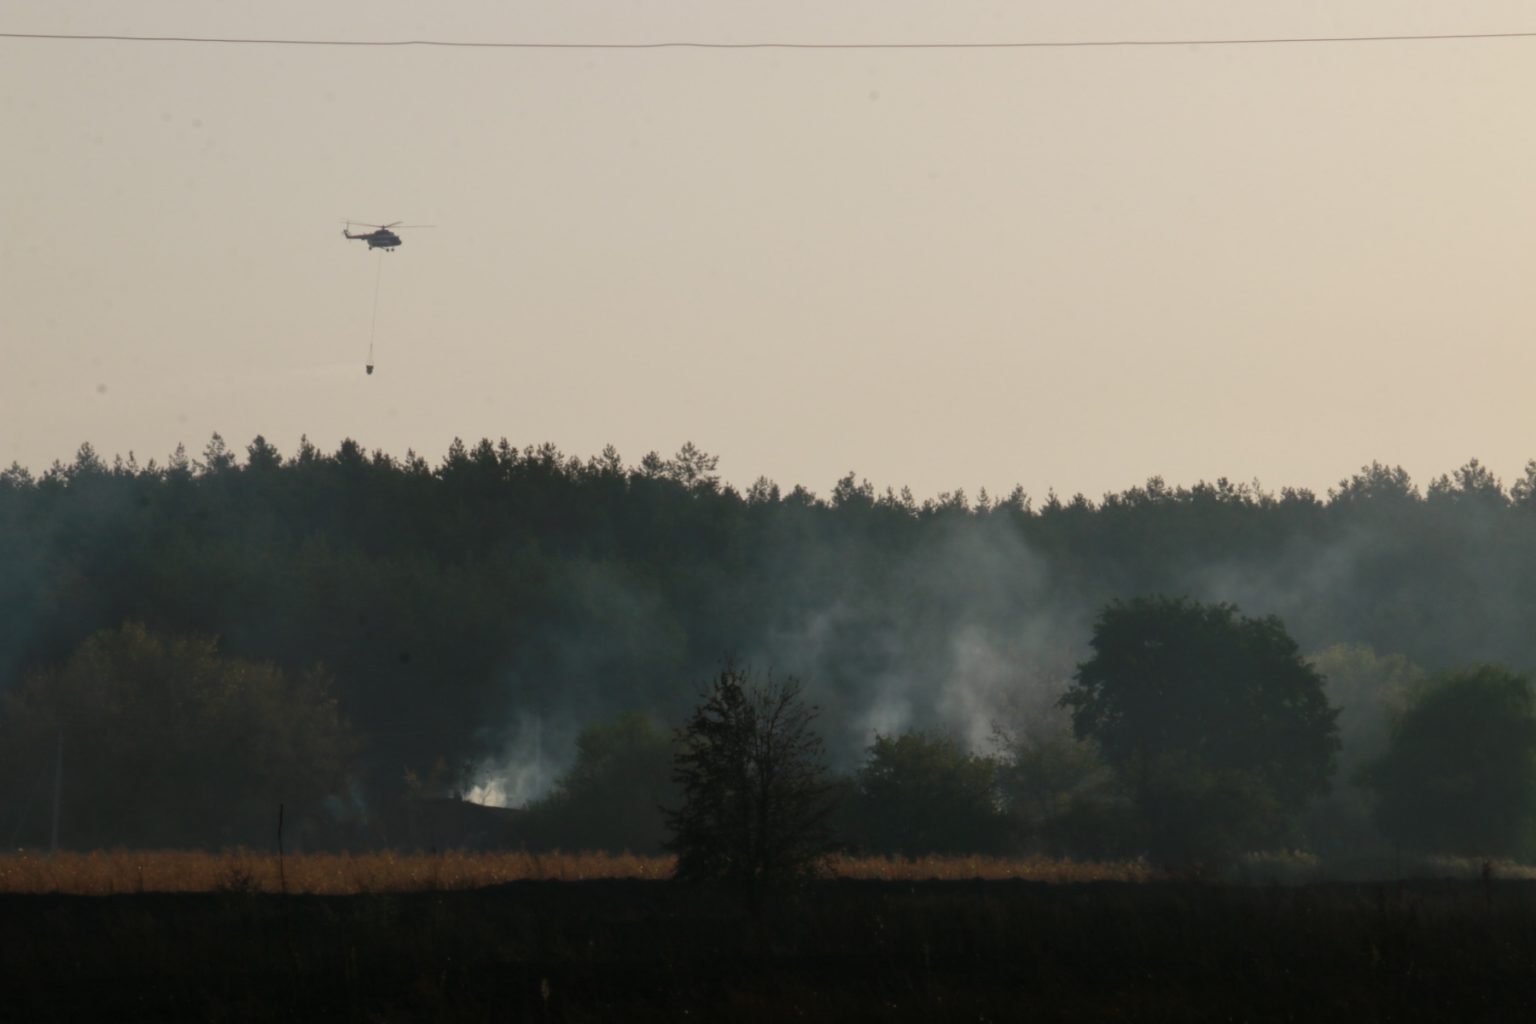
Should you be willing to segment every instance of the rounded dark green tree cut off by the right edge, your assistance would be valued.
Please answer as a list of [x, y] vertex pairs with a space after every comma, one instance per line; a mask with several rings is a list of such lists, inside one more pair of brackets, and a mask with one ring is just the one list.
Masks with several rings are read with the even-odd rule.
[[1416, 851], [1536, 854], [1536, 702], [1496, 665], [1439, 676], [1364, 772], [1376, 824]]

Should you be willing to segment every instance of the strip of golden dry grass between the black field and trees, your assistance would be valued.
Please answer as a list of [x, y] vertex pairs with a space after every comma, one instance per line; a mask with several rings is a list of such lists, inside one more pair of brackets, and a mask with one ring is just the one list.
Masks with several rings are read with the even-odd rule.
[[[1031, 881], [1146, 881], [1141, 863], [1075, 863], [1044, 858], [885, 857], [834, 858], [839, 878], [920, 881], [926, 878], [1023, 878]], [[0, 857], [0, 892], [432, 892], [479, 889], [505, 881], [588, 878], [667, 878], [671, 857], [627, 854], [303, 854], [283, 861], [269, 854], [226, 851], [111, 851], [94, 854], [20, 852]]]

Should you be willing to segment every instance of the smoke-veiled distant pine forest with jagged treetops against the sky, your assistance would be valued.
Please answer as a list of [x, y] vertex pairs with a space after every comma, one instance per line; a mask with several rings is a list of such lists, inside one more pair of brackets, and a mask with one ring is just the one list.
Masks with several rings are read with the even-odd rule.
[[430, 462], [215, 434], [200, 457], [83, 445], [0, 473], [0, 691], [123, 623], [214, 637], [327, 677], [358, 800], [498, 772], [516, 795], [590, 723], [676, 725], [727, 656], [803, 680], [837, 768], [909, 729], [983, 749], [1060, 722], [1094, 616], [1141, 594], [1279, 616], [1306, 652], [1536, 668], [1536, 462], [1510, 487], [1471, 461], [1422, 488], [1373, 464], [1326, 494], [1154, 477], [917, 500], [854, 473], [737, 490], [691, 444]]

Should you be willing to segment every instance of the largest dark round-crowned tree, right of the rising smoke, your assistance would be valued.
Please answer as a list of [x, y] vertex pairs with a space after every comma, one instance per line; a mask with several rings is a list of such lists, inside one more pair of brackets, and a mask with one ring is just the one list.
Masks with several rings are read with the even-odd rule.
[[1061, 699], [1166, 863], [1220, 861], [1286, 837], [1329, 789], [1338, 712], [1279, 619], [1140, 597], [1104, 608]]

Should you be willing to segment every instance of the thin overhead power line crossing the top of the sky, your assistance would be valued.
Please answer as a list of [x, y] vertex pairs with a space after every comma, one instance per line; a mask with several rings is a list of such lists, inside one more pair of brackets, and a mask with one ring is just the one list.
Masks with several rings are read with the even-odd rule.
[[217, 43], [235, 46], [449, 46], [464, 49], [1107, 49], [1144, 46], [1295, 46], [1303, 43], [1428, 43], [1448, 40], [1536, 38], [1536, 32], [1425, 32], [1399, 35], [1270, 35], [1227, 38], [1100, 38], [1003, 40], [957, 43], [710, 43], [671, 40], [656, 43], [528, 43], [445, 38], [247, 38], [215, 35], [86, 35], [72, 32], [0, 32], [0, 38], [91, 43]]

